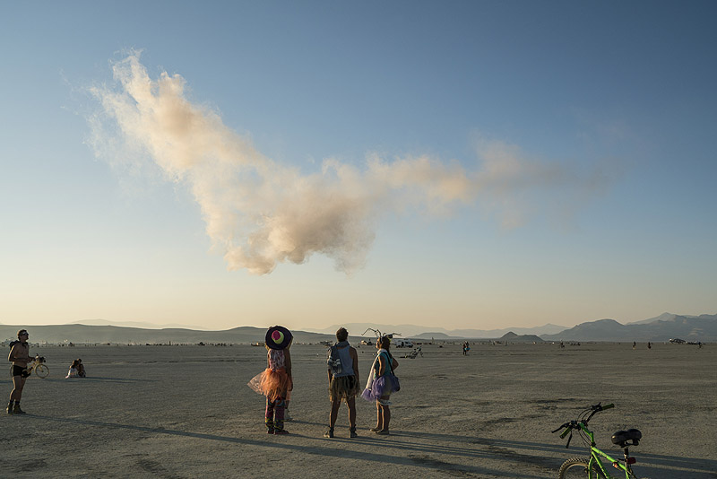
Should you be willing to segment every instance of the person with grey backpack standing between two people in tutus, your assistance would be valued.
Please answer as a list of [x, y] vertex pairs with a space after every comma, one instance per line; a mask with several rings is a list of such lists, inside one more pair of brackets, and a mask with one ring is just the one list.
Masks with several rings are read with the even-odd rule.
[[329, 373], [329, 430], [324, 437], [333, 438], [333, 426], [339, 415], [341, 401], [349, 406], [350, 437], [357, 438], [356, 433], [356, 396], [358, 396], [358, 354], [349, 344], [349, 332], [345, 327], [336, 331], [336, 341], [329, 349], [327, 358]]

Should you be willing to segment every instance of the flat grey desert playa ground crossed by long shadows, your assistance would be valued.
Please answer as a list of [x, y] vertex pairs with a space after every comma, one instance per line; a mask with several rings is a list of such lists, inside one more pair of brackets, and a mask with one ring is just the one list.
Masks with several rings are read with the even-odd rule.
[[[263, 397], [246, 382], [263, 348], [234, 346], [35, 347], [47, 379], [28, 380], [24, 416], [0, 418], [2, 477], [521, 477], [557, 476], [585, 456], [550, 431], [599, 401], [598, 446], [620, 456], [614, 431], [635, 427], [639, 476], [717, 477], [717, 346], [653, 344], [424, 345], [402, 359], [390, 436], [368, 431], [375, 405], [358, 403], [351, 440], [341, 406], [325, 439], [325, 347], [295, 344], [288, 436], [263, 427]], [[358, 349], [361, 380], [374, 349]], [[64, 379], [81, 357], [89, 377]], [[5, 395], [12, 382], [5, 373]], [[6, 396], [5, 396], [6, 397]], [[617, 471], [616, 471], [617, 472]]]

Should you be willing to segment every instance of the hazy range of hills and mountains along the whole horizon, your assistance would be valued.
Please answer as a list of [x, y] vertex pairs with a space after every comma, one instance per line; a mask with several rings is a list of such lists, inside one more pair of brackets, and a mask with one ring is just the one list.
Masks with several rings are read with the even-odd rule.
[[[145, 323], [142, 323], [145, 324]], [[155, 326], [149, 325], [148, 326]], [[599, 319], [566, 328], [547, 324], [542, 327], [511, 327], [505, 329], [454, 329], [419, 327], [415, 325], [376, 325], [371, 323], [348, 323], [324, 330], [292, 331], [296, 343], [319, 343], [333, 341], [339, 327], [346, 327], [350, 337], [364, 335], [367, 328], [380, 329], [382, 333], [400, 333], [402, 337], [428, 340], [502, 339], [505, 341], [653, 341], [662, 342], [672, 338], [703, 343], [717, 341], [717, 315], [681, 316], [671, 313], [657, 318], [645, 319], [623, 325], [614, 319]], [[17, 330], [24, 326], [0, 325], [0, 341], [15, 339]], [[155, 326], [156, 327], [156, 326]], [[263, 342], [266, 329], [260, 327], [235, 327], [222, 331], [201, 331], [182, 327], [91, 326], [83, 324], [33, 326], [31, 343], [111, 343], [111, 344], [198, 344], [230, 343], [248, 344]], [[367, 336], [374, 333], [368, 331]], [[540, 336], [540, 337], [538, 337]]]

